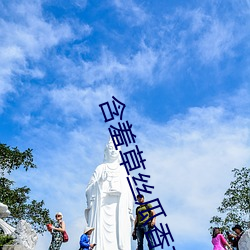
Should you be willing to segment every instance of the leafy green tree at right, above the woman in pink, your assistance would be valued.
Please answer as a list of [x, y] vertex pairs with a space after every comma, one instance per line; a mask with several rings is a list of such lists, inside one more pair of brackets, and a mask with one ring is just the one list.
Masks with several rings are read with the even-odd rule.
[[250, 220], [250, 169], [233, 169], [234, 180], [226, 191], [225, 197], [217, 211], [222, 216], [213, 216], [210, 223], [230, 231], [235, 224], [248, 227]]

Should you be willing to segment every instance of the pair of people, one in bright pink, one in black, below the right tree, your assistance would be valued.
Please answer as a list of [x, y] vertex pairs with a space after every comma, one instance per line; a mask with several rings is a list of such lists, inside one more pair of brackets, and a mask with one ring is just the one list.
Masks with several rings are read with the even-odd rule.
[[244, 233], [240, 225], [235, 225], [232, 230], [235, 234], [227, 232], [228, 241], [221, 233], [220, 228], [215, 227], [213, 229], [212, 244], [214, 245], [213, 250], [224, 250], [227, 246], [231, 250], [239, 250], [239, 240]]

